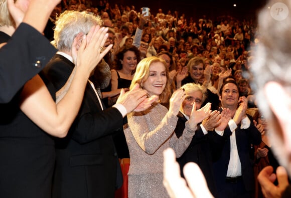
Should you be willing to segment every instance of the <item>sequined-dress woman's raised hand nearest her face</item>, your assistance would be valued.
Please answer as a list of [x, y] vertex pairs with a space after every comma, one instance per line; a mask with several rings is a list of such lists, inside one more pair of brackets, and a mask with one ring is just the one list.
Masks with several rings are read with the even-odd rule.
[[170, 99], [169, 112], [178, 115], [180, 106], [185, 99], [185, 91], [183, 89], [177, 89]]

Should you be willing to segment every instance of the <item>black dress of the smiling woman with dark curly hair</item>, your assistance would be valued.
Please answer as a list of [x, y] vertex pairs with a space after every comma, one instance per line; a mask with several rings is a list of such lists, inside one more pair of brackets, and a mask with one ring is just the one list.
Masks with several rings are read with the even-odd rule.
[[[118, 77], [117, 89], [129, 88], [130, 84], [131, 84], [131, 80], [120, 78], [118, 71], [116, 71], [116, 72], [117, 72], [117, 77]], [[113, 134], [113, 141], [115, 144], [115, 148], [116, 148], [118, 157], [119, 158], [129, 158], [128, 146], [127, 146], [126, 139], [125, 139], [122, 128]]]

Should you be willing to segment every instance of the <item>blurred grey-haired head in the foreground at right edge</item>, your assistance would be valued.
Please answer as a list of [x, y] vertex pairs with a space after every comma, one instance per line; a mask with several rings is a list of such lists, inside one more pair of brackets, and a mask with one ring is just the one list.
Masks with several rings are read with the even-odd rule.
[[252, 87], [271, 148], [291, 175], [291, 1], [270, 1], [261, 10], [257, 38]]

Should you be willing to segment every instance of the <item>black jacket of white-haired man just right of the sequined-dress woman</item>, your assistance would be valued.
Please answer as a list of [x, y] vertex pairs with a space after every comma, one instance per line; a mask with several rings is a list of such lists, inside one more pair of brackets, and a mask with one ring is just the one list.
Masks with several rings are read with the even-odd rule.
[[[175, 133], [179, 138], [185, 129], [185, 123], [187, 122], [187, 119], [181, 112], [179, 112], [177, 117], [178, 122], [175, 128]], [[230, 134], [228, 134], [228, 136], [229, 135]], [[205, 135], [199, 124], [187, 150], [181, 157], [177, 159], [180, 165], [182, 176], [184, 176], [183, 167], [186, 163], [192, 161], [199, 165], [207, 181], [208, 188], [213, 196], [216, 196], [217, 192], [212, 163], [220, 156], [220, 152], [218, 152], [218, 150], [222, 150], [222, 147], [228, 136], [227, 134], [220, 136], [215, 131], [208, 131], [208, 133]]]

